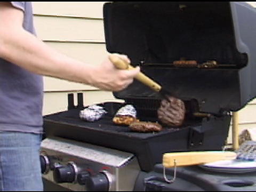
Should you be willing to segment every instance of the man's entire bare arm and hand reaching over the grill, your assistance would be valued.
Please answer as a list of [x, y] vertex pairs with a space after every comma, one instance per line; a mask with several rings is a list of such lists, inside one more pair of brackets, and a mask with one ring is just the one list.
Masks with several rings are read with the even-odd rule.
[[[0, 57], [33, 73], [109, 91], [124, 89], [139, 73], [139, 68], [118, 70], [108, 58], [92, 66], [68, 57], [23, 29], [22, 22], [23, 11], [10, 2], [0, 2]], [[129, 61], [125, 55], [119, 57]]]

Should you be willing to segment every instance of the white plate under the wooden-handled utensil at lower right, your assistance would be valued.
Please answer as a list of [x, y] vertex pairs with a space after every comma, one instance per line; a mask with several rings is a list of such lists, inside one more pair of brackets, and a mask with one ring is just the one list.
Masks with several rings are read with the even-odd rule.
[[221, 173], [249, 173], [256, 171], [255, 161], [245, 161], [239, 159], [205, 163], [199, 166], [208, 171]]

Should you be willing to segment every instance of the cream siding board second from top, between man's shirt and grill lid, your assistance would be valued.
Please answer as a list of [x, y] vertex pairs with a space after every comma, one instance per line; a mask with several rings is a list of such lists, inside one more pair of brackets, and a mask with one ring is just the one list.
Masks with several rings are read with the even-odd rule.
[[35, 23], [37, 35], [44, 41], [105, 42], [102, 20], [37, 16]]

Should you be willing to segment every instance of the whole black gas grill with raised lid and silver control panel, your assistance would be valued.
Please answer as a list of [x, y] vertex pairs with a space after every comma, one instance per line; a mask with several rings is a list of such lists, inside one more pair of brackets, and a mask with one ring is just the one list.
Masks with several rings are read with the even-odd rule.
[[[109, 2], [103, 6], [103, 16], [107, 51], [129, 55], [133, 66], [139, 65], [143, 73], [181, 98], [187, 109], [185, 122], [179, 128], [165, 126], [164, 131], [158, 133], [137, 133], [126, 126], [115, 125], [112, 119], [116, 111], [127, 104], [137, 109], [141, 121], [158, 120], [156, 110], [161, 96], [134, 81], [127, 89], [113, 93], [124, 103], [98, 103], [108, 114], [97, 122], [80, 119], [79, 111], [86, 107], [83, 94], [77, 94], [77, 106], [74, 94], [69, 94], [67, 111], [44, 117], [46, 140], [61, 138], [132, 154], [131, 159], [138, 160], [140, 172], [134, 190], [143, 188], [141, 180], [149, 177], [148, 173], [154, 174], [164, 153], [222, 150], [228, 137], [231, 112], [242, 109], [256, 95], [255, 9], [245, 2]], [[196, 61], [196, 65], [175, 65], [176, 61], [191, 60]], [[58, 156], [50, 158], [52, 162], [58, 159], [61, 167], [69, 167], [65, 158], [56, 155], [63, 152], [47, 145], [43, 150], [48, 156]], [[65, 153], [74, 156], [71, 152]], [[95, 163], [98, 159], [94, 163], [88, 163], [87, 157], [82, 159], [86, 162], [85, 170], [89, 166], [96, 178], [101, 175], [102, 168]], [[74, 162], [78, 168], [84, 167], [80, 161]], [[129, 163], [130, 160], [123, 166], [129, 167]], [[118, 169], [122, 170], [123, 166]], [[51, 171], [54, 174], [58, 169], [52, 166]], [[71, 181], [87, 189], [97, 188], [94, 175], [91, 172], [89, 175], [87, 178], [93, 185], [77, 179], [84, 176], [79, 171], [73, 173]], [[111, 190], [133, 188], [135, 178], [129, 187], [124, 187], [121, 178], [114, 174], [119, 188]], [[70, 180], [57, 180], [60, 185], [70, 183]], [[109, 190], [101, 188], [105, 189]]]

